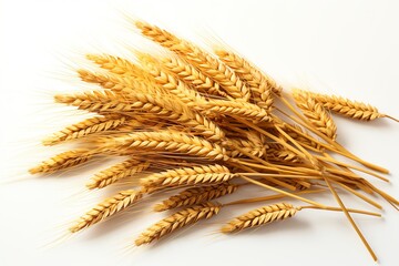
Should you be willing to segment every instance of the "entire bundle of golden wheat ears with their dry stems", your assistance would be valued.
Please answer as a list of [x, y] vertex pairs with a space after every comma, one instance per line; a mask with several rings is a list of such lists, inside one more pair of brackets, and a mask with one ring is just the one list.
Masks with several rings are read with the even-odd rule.
[[[91, 112], [93, 117], [43, 141], [49, 146], [75, 142], [78, 149], [30, 170], [32, 174], [47, 174], [99, 155], [121, 157], [120, 163], [95, 174], [86, 186], [100, 190], [127, 181], [134, 185], [89, 209], [70, 227], [71, 233], [139, 205], [144, 198], [161, 198], [154, 211], [175, 213], [143, 232], [135, 241], [143, 245], [216, 216], [232, 205], [288, 197], [305, 205], [264, 206], [233, 218], [221, 232], [286, 219], [304, 208], [337, 211], [347, 216], [376, 259], [350, 213], [380, 215], [347, 208], [339, 193], [349, 192], [377, 208], [381, 208], [380, 204], [369, 195], [379, 195], [395, 207], [399, 202], [359, 174], [387, 181], [381, 173], [388, 171], [359, 158], [337, 142], [331, 113], [362, 121], [392, 117], [339, 96], [303, 90], [288, 94], [229, 49], [218, 47], [208, 52], [146, 22], [135, 22], [135, 27], [164, 48], [163, 55], [135, 52], [132, 61], [89, 54], [88, 60], [99, 71], [78, 73], [82, 81], [95, 83], [99, 89], [54, 99]], [[338, 161], [334, 154], [354, 164]], [[215, 201], [243, 185], [262, 186], [274, 194], [227, 203]], [[171, 192], [175, 194], [168, 196]], [[331, 193], [338, 206], [306, 197], [316, 192]]]

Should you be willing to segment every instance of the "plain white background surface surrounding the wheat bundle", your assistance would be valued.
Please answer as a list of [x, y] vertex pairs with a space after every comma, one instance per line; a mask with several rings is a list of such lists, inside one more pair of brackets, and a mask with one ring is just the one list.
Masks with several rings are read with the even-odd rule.
[[[123, 13], [200, 41], [222, 39], [286, 88], [341, 94], [398, 117], [398, 1], [0, 2], [0, 265], [374, 265], [338, 213], [303, 211], [255, 232], [215, 234], [228, 217], [259, 205], [228, 208], [219, 219], [152, 248], [125, 252], [161, 217], [147, 211], [131, 212], [62, 245], [47, 246], [62, 236], [65, 222], [101, 197], [101, 193], [76, 194], [99, 168], [4, 183], [29, 177], [28, 167], [66, 149], [41, 147], [40, 139], [82, 117], [52, 104], [51, 95], [86, 88], [73, 74], [73, 69], [86, 64], [86, 52], [129, 58], [129, 47], [146, 49]], [[391, 170], [391, 184], [375, 184], [399, 197], [399, 124], [340, 117], [336, 122], [340, 143]], [[327, 194], [315, 198], [335, 204]], [[357, 198], [344, 200], [372, 209]], [[382, 219], [354, 217], [380, 264], [399, 265], [399, 215], [383, 206]]]

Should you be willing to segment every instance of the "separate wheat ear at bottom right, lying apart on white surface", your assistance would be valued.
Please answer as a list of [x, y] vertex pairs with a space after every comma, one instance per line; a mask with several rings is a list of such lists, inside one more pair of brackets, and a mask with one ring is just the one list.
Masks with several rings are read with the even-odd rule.
[[269, 224], [278, 219], [293, 217], [298, 209], [291, 204], [279, 203], [256, 208], [243, 214], [222, 227], [222, 233], [235, 233], [246, 228]]

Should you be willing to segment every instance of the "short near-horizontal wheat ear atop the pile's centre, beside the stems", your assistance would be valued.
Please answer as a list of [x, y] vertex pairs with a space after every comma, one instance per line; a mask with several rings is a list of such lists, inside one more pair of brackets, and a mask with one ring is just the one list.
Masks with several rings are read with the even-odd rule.
[[242, 101], [209, 100], [203, 104], [203, 108], [206, 110], [206, 112], [212, 112], [215, 114], [238, 115], [255, 122], [269, 122], [272, 120], [272, 117], [268, 116], [264, 109]]

